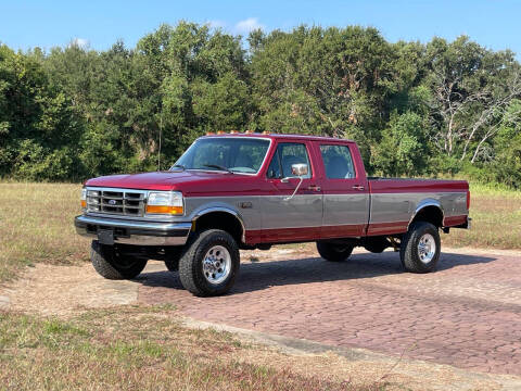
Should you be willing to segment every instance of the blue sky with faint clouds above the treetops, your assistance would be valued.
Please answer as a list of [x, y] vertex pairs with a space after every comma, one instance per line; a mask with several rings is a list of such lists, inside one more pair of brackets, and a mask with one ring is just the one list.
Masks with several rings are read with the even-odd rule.
[[300, 24], [373, 26], [390, 41], [425, 42], [433, 36], [471, 39], [495, 50], [521, 53], [521, 1], [165, 1], [0, 0], [0, 42], [14, 49], [66, 46], [77, 39], [107, 49], [117, 39], [134, 47], [162, 23], [211, 23], [246, 35], [251, 28], [288, 30]]

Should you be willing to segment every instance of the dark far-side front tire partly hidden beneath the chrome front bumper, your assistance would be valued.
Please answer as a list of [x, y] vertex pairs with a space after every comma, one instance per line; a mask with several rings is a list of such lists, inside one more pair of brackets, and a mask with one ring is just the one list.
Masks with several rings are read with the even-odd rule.
[[96, 272], [106, 279], [132, 279], [147, 266], [147, 260], [125, 255], [122, 257], [113, 245], [93, 240], [90, 247], [90, 261]]

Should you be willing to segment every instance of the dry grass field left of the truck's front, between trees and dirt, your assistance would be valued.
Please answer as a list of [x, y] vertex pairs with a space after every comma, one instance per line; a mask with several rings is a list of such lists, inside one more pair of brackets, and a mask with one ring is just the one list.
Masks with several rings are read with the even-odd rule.
[[87, 261], [88, 242], [77, 236], [80, 185], [0, 184], [0, 281], [37, 262]]

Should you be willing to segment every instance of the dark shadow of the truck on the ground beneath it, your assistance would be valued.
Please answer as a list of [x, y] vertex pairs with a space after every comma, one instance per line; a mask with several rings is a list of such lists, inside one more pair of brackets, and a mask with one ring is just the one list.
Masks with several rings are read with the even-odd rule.
[[[437, 273], [453, 267], [490, 263], [494, 256], [442, 253]], [[158, 265], [157, 265], [158, 266]], [[399, 255], [354, 254], [345, 262], [327, 262], [320, 257], [289, 258], [271, 262], [251, 262], [245, 258], [230, 294], [264, 290], [274, 286], [301, 285], [321, 281], [367, 279], [380, 276], [405, 274]], [[147, 287], [183, 289], [177, 273], [144, 270], [137, 281]]]

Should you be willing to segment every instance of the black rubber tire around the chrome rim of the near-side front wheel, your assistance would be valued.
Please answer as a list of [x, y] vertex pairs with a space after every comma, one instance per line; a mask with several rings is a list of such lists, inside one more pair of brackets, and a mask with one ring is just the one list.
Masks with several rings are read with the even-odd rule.
[[[215, 245], [221, 245], [229, 252], [231, 267], [227, 278], [218, 283], [211, 283], [203, 274], [203, 261]], [[207, 229], [194, 232], [189, 239], [179, 260], [179, 278], [181, 285], [189, 292], [198, 297], [214, 297], [227, 293], [239, 274], [240, 255], [239, 247], [233, 237], [220, 229]]]

